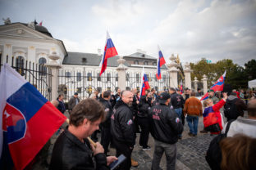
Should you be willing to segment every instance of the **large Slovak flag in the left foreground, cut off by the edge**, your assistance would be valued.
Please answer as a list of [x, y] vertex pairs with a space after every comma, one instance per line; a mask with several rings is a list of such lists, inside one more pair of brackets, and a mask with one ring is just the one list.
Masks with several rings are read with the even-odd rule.
[[66, 116], [10, 65], [3, 65], [0, 89], [0, 169], [24, 169]]

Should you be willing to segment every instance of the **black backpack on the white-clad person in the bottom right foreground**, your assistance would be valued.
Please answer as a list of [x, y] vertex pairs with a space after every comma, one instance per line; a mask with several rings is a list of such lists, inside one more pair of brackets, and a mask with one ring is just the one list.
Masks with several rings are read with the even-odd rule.
[[227, 122], [225, 133], [215, 136], [208, 147], [205, 159], [206, 159], [208, 165], [210, 166], [210, 168], [213, 170], [221, 169], [222, 150], [220, 148], [219, 143], [220, 143], [220, 141], [222, 141], [222, 139], [224, 139], [226, 137], [226, 134], [227, 134], [227, 132], [231, 126], [231, 123], [233, 121], [234, 120]]

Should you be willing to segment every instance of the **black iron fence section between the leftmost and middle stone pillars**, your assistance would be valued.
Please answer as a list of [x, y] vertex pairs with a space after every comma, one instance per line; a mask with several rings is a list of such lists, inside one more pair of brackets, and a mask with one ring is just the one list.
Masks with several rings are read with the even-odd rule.
[[90, 96], [95, 90], [102, 92], [111, 90], [117, 92], [118, 74], [104, 73], [99, 76], [96, 71], [60, 70], [58, 74], [58, 93], [64, 95], [64, 101], [68, 101], [75, 92], [80, 99]]

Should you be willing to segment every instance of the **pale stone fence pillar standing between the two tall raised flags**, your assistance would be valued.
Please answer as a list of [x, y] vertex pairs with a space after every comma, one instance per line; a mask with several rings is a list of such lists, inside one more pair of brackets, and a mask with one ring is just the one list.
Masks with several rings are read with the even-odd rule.
[[117, 60], [118, 66], [117, 66], [117, 74], [118, 74], [118, 87], [122, 90], [126, 90], [126, 69], [128, 67], [124, 65], [126, 62], [125, 59], [123, 59], [122, 56], [120, 56], [120, 59]]

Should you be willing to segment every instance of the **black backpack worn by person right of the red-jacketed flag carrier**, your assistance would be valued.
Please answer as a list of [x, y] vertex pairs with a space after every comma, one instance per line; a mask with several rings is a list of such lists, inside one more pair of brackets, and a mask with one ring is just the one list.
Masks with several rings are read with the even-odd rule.
[[227, 120], [236, 119], [238, 117], [237, 109], [235, 102], [238, 98], [235, 98], [233, 101], [227, 101], [224, 105], [224, 115]]

